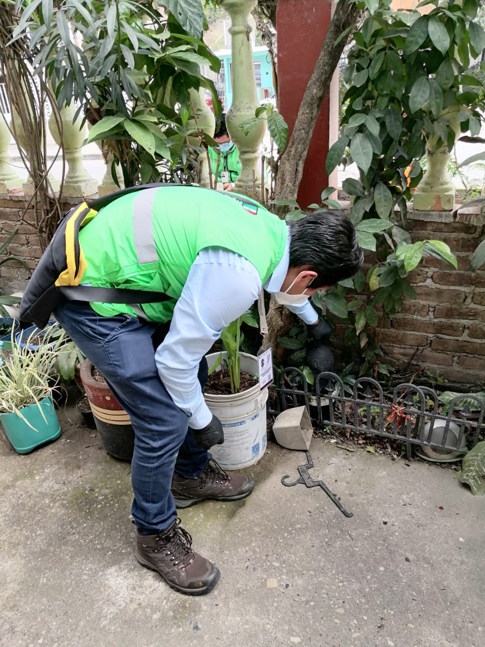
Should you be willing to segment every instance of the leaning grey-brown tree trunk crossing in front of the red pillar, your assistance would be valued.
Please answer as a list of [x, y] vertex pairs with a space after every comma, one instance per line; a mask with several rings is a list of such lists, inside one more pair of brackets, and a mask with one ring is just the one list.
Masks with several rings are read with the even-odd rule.
[[290, 141], [279, 160], [275, 183], [277, 199], [296, 200], [303, 175], [303, 166], [307, 159], [308, 145], [313, 135], [321, 104], [329, 91], [330, 81], [347, 38], [342, 38], [337, 45], [334, 43], [345, 30], [356, 24], [357, 16], [356, 3], [350, 3], [349, 0], [339, 0], [314, 71], [308, 81], [305, 94], [303, 94]]

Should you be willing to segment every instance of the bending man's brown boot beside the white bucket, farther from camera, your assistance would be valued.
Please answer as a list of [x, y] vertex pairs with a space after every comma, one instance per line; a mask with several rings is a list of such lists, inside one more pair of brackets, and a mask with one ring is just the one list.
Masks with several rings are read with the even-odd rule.
[[196, 479], [173, 475], [172, 494], [177, 508], [188, 508], [189, 505], [203, 499], [215, 501], [237, 501], [249, 496], [253, 490], [254, 481], [243, 474], [227, 474], [210, 460], [204, 467], [204, 472]]

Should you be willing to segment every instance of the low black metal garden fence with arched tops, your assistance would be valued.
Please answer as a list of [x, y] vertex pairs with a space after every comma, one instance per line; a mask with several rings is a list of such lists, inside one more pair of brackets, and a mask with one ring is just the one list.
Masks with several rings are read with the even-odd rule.
[[413, 446], [427, 446], [445, 454], [471, 449], [485, 435], [485, 402], [480, 397], [457, 396], [444, 408], [438, 394], [426, 386], [399, 384], [385, 394], [376, 380], [361, 377], [344, 384], [335, 373], [320, 373], [312, 390], [301, 371], [275, 369], [268, 412], [278, 415], [288, 408], [305, 406], [314, 426], [380, 436], [405, 444], [411, 458]]

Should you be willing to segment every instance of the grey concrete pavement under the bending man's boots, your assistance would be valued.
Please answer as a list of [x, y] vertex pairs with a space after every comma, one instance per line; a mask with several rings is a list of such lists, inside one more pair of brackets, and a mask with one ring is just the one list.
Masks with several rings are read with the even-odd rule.
[[305, 454], [270, 443], [252, 496], [180, 512], [222, 574], [184, 597], [132, 556], [129, 465], [67, 414], [33, 454], [0, 443], [0, 645], [485, 644], [485, 499], [452, 470], [314, 439], [347, 519], [323, 490], [283, 487]]

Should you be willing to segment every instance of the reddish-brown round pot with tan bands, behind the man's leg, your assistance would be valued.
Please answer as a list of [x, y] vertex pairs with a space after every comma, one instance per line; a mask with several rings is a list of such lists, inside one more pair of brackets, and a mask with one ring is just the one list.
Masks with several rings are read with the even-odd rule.
[[81, 381], [91, 405], [96, 429], [106, 452], [120, 461], [131, 461], [135, 432], [129, 415], [116, 400], [106, 382], [94, 379], [89, 360], [81, 366]]

